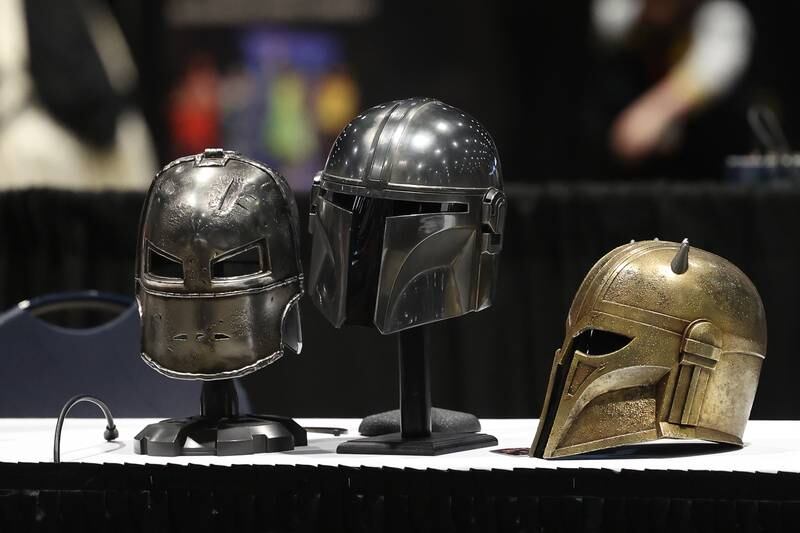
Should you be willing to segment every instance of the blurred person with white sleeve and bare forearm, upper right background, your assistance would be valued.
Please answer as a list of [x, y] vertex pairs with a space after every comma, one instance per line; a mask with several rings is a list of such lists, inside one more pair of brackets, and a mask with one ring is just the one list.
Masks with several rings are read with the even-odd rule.
[[747, 151], [754, 29], [742, 3], [593, 0], [591, 15], [584, 134], [602, 177], [714, 178]]

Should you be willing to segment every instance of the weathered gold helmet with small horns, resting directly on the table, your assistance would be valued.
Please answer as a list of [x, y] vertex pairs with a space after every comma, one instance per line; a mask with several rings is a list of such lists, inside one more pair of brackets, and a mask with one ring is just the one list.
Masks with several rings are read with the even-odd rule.
[[741, 446], [767, 324], [733, 264], [686, 240], [620, 246], [583, 280], [566, 329], [532, 456], [659, 438]]

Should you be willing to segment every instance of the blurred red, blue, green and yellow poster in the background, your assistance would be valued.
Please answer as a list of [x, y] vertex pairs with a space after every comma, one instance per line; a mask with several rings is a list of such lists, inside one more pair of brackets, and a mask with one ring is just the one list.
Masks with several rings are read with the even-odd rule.
[[183, 63], [169, 108], [175, 155], [223, 146], [266, 162], [296, 190], [310, 188], [359, 110], [339, 39], [284, 29], [231, 30], [229, 39], [216, 57], [195, 51]]

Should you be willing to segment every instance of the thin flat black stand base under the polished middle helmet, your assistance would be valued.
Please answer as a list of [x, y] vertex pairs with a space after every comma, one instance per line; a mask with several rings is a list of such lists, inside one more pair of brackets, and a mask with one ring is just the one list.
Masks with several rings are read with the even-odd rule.
[[404, 439], [400, 433], [390, 433], [343, 442], [336, 453], [443, 455], [488, 446], [497, 446], [497, 439], [484, 433], [432, 433], [430, 437], [417, 439]]

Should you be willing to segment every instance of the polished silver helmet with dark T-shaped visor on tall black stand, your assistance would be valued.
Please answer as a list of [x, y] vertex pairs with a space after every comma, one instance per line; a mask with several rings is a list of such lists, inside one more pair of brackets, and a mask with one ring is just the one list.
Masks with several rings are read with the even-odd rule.
[[337, 328], [383, 334], [492, 304], [505, 195], [492, 138], [429, 98], [368, 109], [314, 178], [309, 291]]

